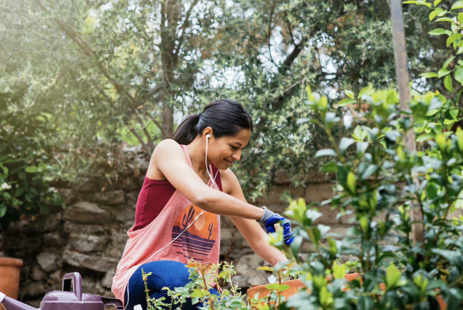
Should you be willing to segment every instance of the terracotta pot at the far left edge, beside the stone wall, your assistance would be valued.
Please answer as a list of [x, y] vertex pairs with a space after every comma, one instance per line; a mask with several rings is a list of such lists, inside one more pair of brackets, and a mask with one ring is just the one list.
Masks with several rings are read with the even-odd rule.
[[[19, 271], [23, 261], [17, 258], [0, 257], [0, 291], [6, 296], [18, 299]], [[0, 304], [0, 310], [3, 310]]]

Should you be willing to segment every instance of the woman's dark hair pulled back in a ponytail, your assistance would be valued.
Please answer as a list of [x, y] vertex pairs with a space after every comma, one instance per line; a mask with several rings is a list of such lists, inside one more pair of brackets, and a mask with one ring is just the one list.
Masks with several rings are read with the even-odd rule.
[[179, 144], [190, 144], [206, 127], [211, 127], [213, 136], [220, 138], [234, 136], [242, 129], [252, 132], [254, 124], [241, 104], [231, 99], [219, 99], [206, 105], [202, 112], [185, 118], [172, 139]]

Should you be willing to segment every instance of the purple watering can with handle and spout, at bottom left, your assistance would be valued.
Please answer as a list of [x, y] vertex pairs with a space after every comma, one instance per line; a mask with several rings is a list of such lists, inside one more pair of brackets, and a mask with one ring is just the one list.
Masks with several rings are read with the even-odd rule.
[[[71, 291], [71, 281], [73, 291]], [[124, 310], [124, 305], [119, 299], [82, 294], [80, 273], [66, 273], [63, 279], [63, 291], [50, 291], [40, 303], [39, 309], [7, 297], [2, 292], [0, 292], [0, 303], [6, 310]]]

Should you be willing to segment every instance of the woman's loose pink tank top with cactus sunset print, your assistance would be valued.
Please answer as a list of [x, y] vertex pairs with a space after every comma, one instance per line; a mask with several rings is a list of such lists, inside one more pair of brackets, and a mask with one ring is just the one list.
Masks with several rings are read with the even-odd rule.
[[[193, 169], [187, 147], [182, 145], [182, 148]], [[212, 165], [209, 166], [209, 172], [215, 177]], [[212, 180], [209, 180], [207, 186], [212, 186]], [[122, 302], [132, 273], [146, 262], [175, 260], [187, 264], [190, 259], [219, 262], [220, 216], [201, 210], [178, 190], [175, 190], [154, 221], [142, 229], [134, 230], [134, 227], [127, 232], [129, 240], [125, 244], [111, 287], [116, 298]]]

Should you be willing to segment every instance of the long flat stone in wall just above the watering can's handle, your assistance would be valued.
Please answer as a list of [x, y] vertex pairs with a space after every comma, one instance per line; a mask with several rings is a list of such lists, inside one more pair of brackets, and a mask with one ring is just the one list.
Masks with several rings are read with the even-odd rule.
[[104, 273], [110, 270], [115, 270], [119, 259], [64, 250], [63, 261], [71, 266], [83, 267]]

